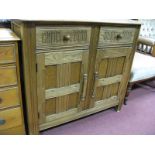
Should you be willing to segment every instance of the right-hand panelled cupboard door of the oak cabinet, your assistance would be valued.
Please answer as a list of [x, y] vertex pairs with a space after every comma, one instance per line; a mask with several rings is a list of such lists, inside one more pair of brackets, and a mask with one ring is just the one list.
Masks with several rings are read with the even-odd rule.
[[97, 50], [92, 89], [93, 106], [110, 108], [123, 102], [132, 56], [131, 47]]

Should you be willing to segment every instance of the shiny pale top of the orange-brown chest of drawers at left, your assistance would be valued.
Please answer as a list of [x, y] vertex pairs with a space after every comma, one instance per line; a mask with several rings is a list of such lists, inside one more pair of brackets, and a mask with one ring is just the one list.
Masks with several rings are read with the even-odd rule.
[[0, 42], [18, 41], [20, 40], [16, 34], [8, 28], [0, 28]]

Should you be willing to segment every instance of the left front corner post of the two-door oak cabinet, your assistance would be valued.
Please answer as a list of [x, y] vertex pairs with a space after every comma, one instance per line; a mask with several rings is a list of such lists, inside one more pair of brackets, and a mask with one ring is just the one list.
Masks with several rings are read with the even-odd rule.
[[38, 134], [37, 75], [35, 55], [35, 25], [19, 23], [21, 27], [22, 58], [24, 71], [25, 97], [28, 113], [29, 134]]

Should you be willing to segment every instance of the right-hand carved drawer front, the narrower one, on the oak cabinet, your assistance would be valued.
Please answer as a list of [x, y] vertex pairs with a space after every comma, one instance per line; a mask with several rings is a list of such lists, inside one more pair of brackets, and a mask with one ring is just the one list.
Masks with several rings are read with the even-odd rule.
[[136, 28], [101, 27], [98, 46], [132, 44], [135, 32]]

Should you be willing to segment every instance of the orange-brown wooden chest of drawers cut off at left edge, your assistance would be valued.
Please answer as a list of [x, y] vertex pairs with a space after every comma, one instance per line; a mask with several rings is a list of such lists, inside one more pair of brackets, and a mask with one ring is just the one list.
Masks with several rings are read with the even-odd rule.
[[25, 134], [19, 75], [18, 41], [0, 28], [0, 135]]

